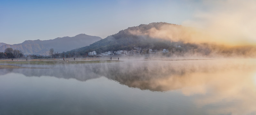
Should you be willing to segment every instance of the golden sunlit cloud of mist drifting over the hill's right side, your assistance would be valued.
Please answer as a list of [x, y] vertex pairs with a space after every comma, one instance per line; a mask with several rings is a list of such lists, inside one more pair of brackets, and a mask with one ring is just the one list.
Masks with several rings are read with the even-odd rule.
[[255, 0], [207, 0], [193, 1], [193, 4], [198, 5], [194, 17], [185, 20], [182, 26], [162, 24], [146, 31], [131, 29], [129, 32], [173, 42], [256, 45]]

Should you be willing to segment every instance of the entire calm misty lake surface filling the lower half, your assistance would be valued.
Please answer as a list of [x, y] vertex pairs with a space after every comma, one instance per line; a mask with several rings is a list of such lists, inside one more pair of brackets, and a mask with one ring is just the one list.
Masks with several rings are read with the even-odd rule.
[[125, 60], [0, 70], [0, 115], [256, 115], [256, 60]]

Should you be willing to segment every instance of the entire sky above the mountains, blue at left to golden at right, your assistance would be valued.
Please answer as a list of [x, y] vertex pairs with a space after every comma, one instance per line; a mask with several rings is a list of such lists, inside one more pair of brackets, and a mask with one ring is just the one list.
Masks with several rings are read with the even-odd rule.
[[[2, 0], [0, 42], [17, 44], [77, 34], [105, 38], [128, 27], [167, 22], [221, 35], [224, 30], [233, 28], [226, 37], [239, 36], [233, 33], [241, 31], [239, 28], [245, 25], [240, 37], [248, 37], [244, 41], [256, 43], [252, 34], [256, 30], [255, 3], [255, 0]], [[241, 16], [244, 18], [236, 19]], [[243, 23], [237, 25], [237, 22]], [[219, 26], [222, 29], [218, 29]]]

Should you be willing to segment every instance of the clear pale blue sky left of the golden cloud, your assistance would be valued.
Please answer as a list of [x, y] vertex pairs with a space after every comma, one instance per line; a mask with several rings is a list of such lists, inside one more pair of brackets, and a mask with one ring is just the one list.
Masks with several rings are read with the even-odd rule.
[[17, 44], [81, 33], [105, 38], [151, 22], [181, 25], [198, 6], [188, 0], [2, 0], [0, 42]]

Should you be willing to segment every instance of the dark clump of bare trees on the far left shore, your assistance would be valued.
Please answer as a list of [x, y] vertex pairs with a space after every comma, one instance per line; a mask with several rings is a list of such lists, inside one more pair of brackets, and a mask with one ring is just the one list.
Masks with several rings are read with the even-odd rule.
[[21, 58], [24, 54], [21, 50], [13, 50], [13, 48], [6, 48], [5, 52], [0, 52], [0, 58]]

